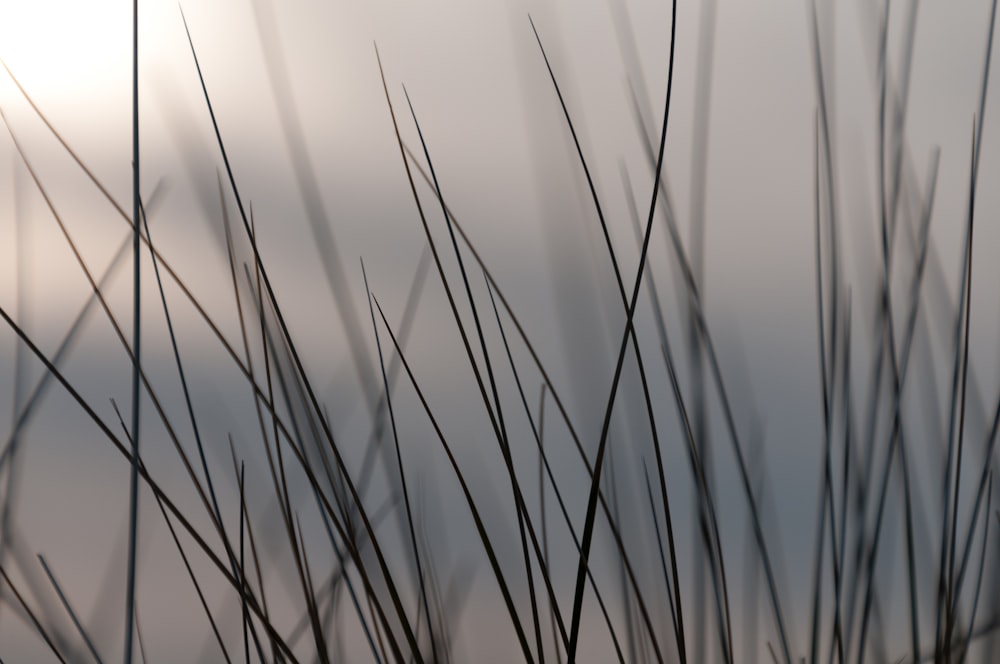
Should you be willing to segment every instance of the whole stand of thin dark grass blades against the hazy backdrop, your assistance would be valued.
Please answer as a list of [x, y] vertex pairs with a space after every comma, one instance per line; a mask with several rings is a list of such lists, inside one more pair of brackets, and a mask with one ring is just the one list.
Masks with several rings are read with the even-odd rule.
[[[32, 165], [30, 146], [2, 115], [33, 186], [56, 220], [91, 291], [55, 351], [42, 348], [16, 316], [0, 308], [0, 317], [17, 344], [14, 424], [0, 451], [0, 464], [7, 471], [0, 530], [3, 612], [37, 633], [60, 661], [100, 662], [120, 656], [110, 643], [96, 638], [93, 620], [79, 613], [81, 598], [60, 584], [62, 576], [47, 559], [39, 555], [36, 569], [34, 558], [24, 555], [31, 545], [13, 525], [18, 450], [27, 444], [22, 439], [40, 412], [39, 404], [50, 389], [58, 388], [124, 457], [132, 473], [121, 653], [126, 662], [136, 655], [146, 661], [143, 634], [155, 634], [162, 627], [139, 622], [139, 607], [154, 601], [177, 602], [178, 610], [196, 606], [207, 635], [204, 658], [230, 663], [463, 661], [479, 658], [469, 649], [486, 631], [508, 635], [510, 653], [503, 653], [502, 658], [540, 663], [610, 658], [620, 662], [737, 662], [767, 657], [787, 664], [805, 659], [962, 662], [974, 652], [992, 661], [1000, 647], [996, 641], [1000, 607], [995, 599], [1000, 596], [1000, 568], [995, 565], [996, 556], [991, 556], [990, 539], [990, 521], [1000, 519], [992, 505], [1000, 400], [988, 409], [975, 387], [969, 357], [972, 268], [977, 253], [973, 230], [986, 221], [977, 213], [976, 193], [996, 4], [992, 3], [989, 14], [973, 120], [960, 287], [958, 293], [950, 294], [943, 276], [948, 267], [942, 264], [929, 231], [935, 217], [939, 152], [932, 153], [926, 181], [920, 182], [906, 140], [916, 4], [906, 10], [900, 80], [894, 79], [889, 66], [888, 2], [877, 20], [878, 48], [872, 68], [878, 99], [874, 191], [880, 281], [875, 285], [852, 284], [847, 277], [841, 246], [847, 215], [838, 205], [842, 185], [836, 177], [840, 172], [837, 135], [828, 92], [831, 65], [825, 60], [828, 54], [822, 48], [816, 6], [809, 5], [816, 93], [811, 167], [821, 421], [816, 432], [820, 468], [815, 519], [809, 524], [814, 544], [807, 604], [784, 578], [778, 539], [782, 524], [774, 527], [778, 510], [768, 490], [771, 460], [761, 456], [760, 431], [741, 423], [736, 415], [744, 402], [752, 405], [753, 394], [733, 387], [704, 303], [704, 206], [706, 197], [712, 195], [706, 185], [708, 123], [704, 118], [710, 104], [714, 2], [706, 3], [697, 30], [679, 23], [676, 0], [671, 4], [669, 30], [663, 34], [667, 54], [663, 111], [655, 127], [645, 119], [650, 116], [646, 110], [649, 95], [645, 73], [632, 50], [631, 19], [624, 5], [617, 7], [618, 37], [646, 169], [637, 174], [622, 162], [626, 209], [614, 213], [601, 195], [585, 141], [578, 133], [577, 109], [563, 94], [564, 72], [546, 51], [544, 26], [539, 29], [530, 18], [526, 21], [525, 29], [532, 31], [538, 46], [537, 64], [551, 84], [553, 107], [558, 107], [568, 132], [576, 176], [586, 184], [587, 211], [601, 233], [599, 278], [611, 282], [613, 277], [620, 301], [620, 309], [616, 302], [614, 312], [608, 314], [607, 323], [620, 338], [613, 339], [617, 347], [610, 385], [600, 386], [607, 396], [597, 430], [582, 428], [580, 418], [574, 417], [571, 387], [555, 378], [554, 360], [540, 350], [539, 339], [529, 334], [531, 328], [519, 315], [516, 299], [495, 277], [456, 216], [446, 196], [449, 183], [439, 178], [431, 156], [434, 138], [421, 127], [406, 88], [401, 95], [393, 92], [391, 71], [383, 67], [377, 49], [372, 53], [373, 76], [380, 77], [386, 132], [394, 133], [402, 162], [402, 169], [386, 177], [405, 178], [413, 204], [410, 221], [419, 222], [423, 232], [419, 263], [401, 312], [380, 301], [370, 289], [363, 263], [364, 291], [354, 292], [349, 285], [348, 263], [340, 254], [336, 224], [323, 205], [280, 43], [266, 6], [255, 4], [267, 75], [278, 102], [296, 188], [324, 259], [326, 287], [342, 325], [337, 334], [343, 335], [349, 348], [356, 391], [348, 405], [356, 406], [366, 418], [360, 435], [331, 416], [319, 387], [316, 367], [321, 365], [310, 361], [286, 316], [286, 301], [279, 297], [272, 266], [265, 260], [266, 247], [258, 244], [258, 220], [250, 198], [241, 190], [227, 151], [225, 128], [213, 109], [211, 72], [203, 70], [199, 61], [196, 30], [188, 30], [185, 20], [204, 111], [214, 133], [213, 149], [221, 158], [219, 207], [206, 209], [206, 214], [224, 238], [228, 276], [224, 288], [227, 293], [231, 289], [237, 314], [235, 341], [224, 331], [222, 312], [200, 303], [186, 278], [171, 264], [171, 257], [153, 241], [148, 217], [155, 212], [162, 190], [158, 186], [145, 199], [141, 196], [138, 97], [133, 97], [130, 215], [49, 121], [15, 72], [4, 65], [52, 137], [128, 225], [129, 236], [109, 266], [95, 277], [64, 214], [49, 195], [48, 184]], [[694, 34], [703, 45], [696, 62], [675, 61], [677, 42]], [[137, 52], [138, 43], [133, 56]], [[691, 165], [694, 204], [689, 243], [683, 240], [667, 167], [668, 135], [676, 131], [670, 109], [672, 102], [677, 103], [673, 81], [678, 68], [699, 76], [695, 105], [701, 119], [695, 128]], [[403, 100], [408, 117], [397, 115]], [[404, 127], [416, 130], [419, 150], [404, 139]], [[613, 219], [626, 215], [638, 248], [634, 262], [629, 260], [630, 252], [616, 247], [614, 238]], [[445, 232], [446, 245], [442, 245]], [[665, 238], [674, 269], [672, 286], [680, 303], [675, 312], [668, 311], [662, 295], [662, 271], [651, 265], [654, 232]], [[131, 342], [107, 297], [109, 279], [128, 239], [136, 261]], [[166, 381], [154, 385], [147, 373], [149, 363], [139, 352], [143, 336], [140, 252], [148, 252], [159, 295], [158, 302], [147, 301], [145, 306], [159, 306], [166, 323], [171, 380], [176, 381], [171, 387]], [[899, 265], [907, 266], [909, 272], [900, 276]], [[927, 280], [936, 280], [934, 292], [944, 295], [931, 295]], [[318, 287], [302, 286], [303, 290], [313, 288]], [[865, 321], [856, 313], [859, 307], [854, 303], [863, 299], [854, 295], [857, 288], [872, 289], [877, 302], [867, 339], [858, 338]], [[501, 478], [501, 495], [494, 500], [478, 485], [480, 478], [462, 455], [466, 441], [450, 433], [452, 420], [469, 414], [442, 405], [443, 397], [434, 393], [433, 376], [423, 373], [426, 368], [415, 361], [420, 350], [410, 346], [425, 291], [443, 293], [447, 300], [446, 320], [435, 321], [435, 333], [457, 333], [461, 346], [449, 358], [450, 368], [468, 381], [466, 389], [477, 410], [474, 416], [484, 423], [478, 433], [490, 445], [495, 443], [496, 450], [490, 454], [499, 453], [496, 474]], [[171, 302], [168, 293], [178, 300]], [[182, 350], [181, 333], [174, 324], [181, 297], [184, 306], [190, 306], [210, 330], [212, 352], [241, 376], [238, 389], [232, 392], [250, 399], [253, 433], [249, 436], [229, 433], [219, 440], [206, 433], [210, 416], [192, 388], [193, 360]], [[316, 306], [322, 301], [312, 293], [307, 297]], [[369, 332], [357, 309], [359, 297], [367, 300]], [[932, 304], [935, 310], [928, 312]], [[91, 401], [85, 386], [71, 380], [64, 368], [84, 322], [96, 308], [110, 323], [133, 369], [128, 419], [114, 402], [111, 411], [104, 413]], [[918, 333], [928, 334], [928, 316], [940, 319], [948, 331], [941, 347], [946, 351], [950, 380], [935, 385], [943, 389], [940, 399], [919, 404], [928, 410], [943, 404], [947, 412], [944, 430], [926, 436], [937, 447], [924, 450], [914, 444], [922, 439], [915, 432], [920, 413], [911, 403], [914, 388], [907, 389], [907, 385], [915, 380], [911, 377], [914, 362], [932, 367], [942, 362], [930, 344], [925, 348], [915, 341]], [[684, 335], [680, 346], [678, 333]], [[556, 341], [558, 347], [560, 340]], [[592, 352], [596, 356], [604, 349]], [[927, 357], [914, 355], [920, 352]], [[30, 390], [24, 378], [29, 359], [44, 368]], [[166, 403], [168, 389], [177, 387], [184, 403], [180, 417]], [[633, 405], [627, 402], [633, 400], [639, 404], [641, 410], [634, 411], [639, 414], [624, 415]], [[156, 429], [139, 427], [140, 404], [146, 403], [152, 406], [150, 417]], [[532, 407], [534, 403], [537, 408]], [[968, 424], [974, 407], [985, 414], [988, 426]], [[114, 418], [109, 417], [111, 413]], [[246, 424], [224, 426], [236, 431]], [[986, 430], [984, 439], [968, 440], [980, 428]], [[430, 448], [416, 445], [419, 430], [429, 432]], [[168, 484], [165, 471], [161, 474], [147, 465], [149, 461], [140, 455], [140, 434], [144, 446], [151, 438], [157, 444], [169, 441], [183, 466], [183, 489], [170, 488], [174, 482]], [[192, 444], [196, 460], [189, 452]], [[231, 468], [215, 467], [218, 464], [210, 462], [213, 450]], [[680, 454], [670, 454], [671, 450]], [[926, 461], [919, 457], [924, 452]], [[418, 463], [418, 454], [447, 463], [434, 466], [435, 472], [428, 476], [425, 466]], [[683, 462], [673, 464], [676, 458]], [[260, 472], [254, 470], [257, 464], [262, 466]], [[930, 468], [930, 484], [920, 479], [920, 464]], [[727, 470], [732, 474], [723, 479]], [[572, 487], [565, 479], [568, 473], [579, 478]], [[457, 485], [457, 507], [428, 509], [434, 496], [427, 488], [429, 481], [452, 489]], [[722, 485], [726, 481], [733, 483], [734, 491]], [[152, 497], [157, 511], [140, 510], [140, 495]], [[939, 499], [930, 509], [924, 503], [928, 496]], [[551, 509], [550, 498], [558, 511]], [[187, 505], [192, 501], [193, 506]], [[463, 551], [467, 557], [459, 563], [442, 563], [444, 547], [434, 541], [434, 533], [464, 527], [458, 519], [446, 516], [456, 509], [472, 522], [474, 546]], [[725, 517], [734, 509], [740, 510], [739, 518], [748, 524], [743, 549], [734, 544], [737, 538], [728, 525], [731, 520]], [[690, 515], [690, 532], [678, 527], [681, 513]], [[511, 516], [514, 527], [506, 527], [503, 519]], [[184, 567], [184, 575], [176, 581], [177, 598], [142, 589], [138, 561], [142, 533], [161, 525], [169, 531], [172, 553], [176, 551]], [[894, 543], [893, 528], [902, 532], [902, 551], [889, 548]], [[686, 550], [690, 558], [685, 557]], [[609, 564], [604, 563], [605, 557]], [[898, 567], [900, 578], [905, 579], [902, 589], [892, 587], [894, 575], [885, 573], [890, 566]], [[472, 572], [477, 567], [485, 569], [478, 576]], [[742, 574], [737, 571], [741, 569], [745, 570]], [[38, 582], [40, 570], [44, 584]], [[475, 583], [488, 589], [489, 609], [496, 612], [488, 625], [468, 624], [463, 615], [473, 601]], [[194, 593], [181, 599], [180, 588], [186, 591], [187, 584]], [[58, 602], [51, 601], [52, 593]], [[984, 597], [989, 600], [981, 606]], [[479, 601], [480, 595], [475, 598]], [[743, 600], [742, 607], [737, 598]], [[892, 626], [896, 613], [905, 615], [902, 631]], [[745, 625], [742, 640], [741, 623]], [[799, 630], [797, 623], [808, 626]], [[0, 645], [0, 656], [5, 656], [2, 650]]]

